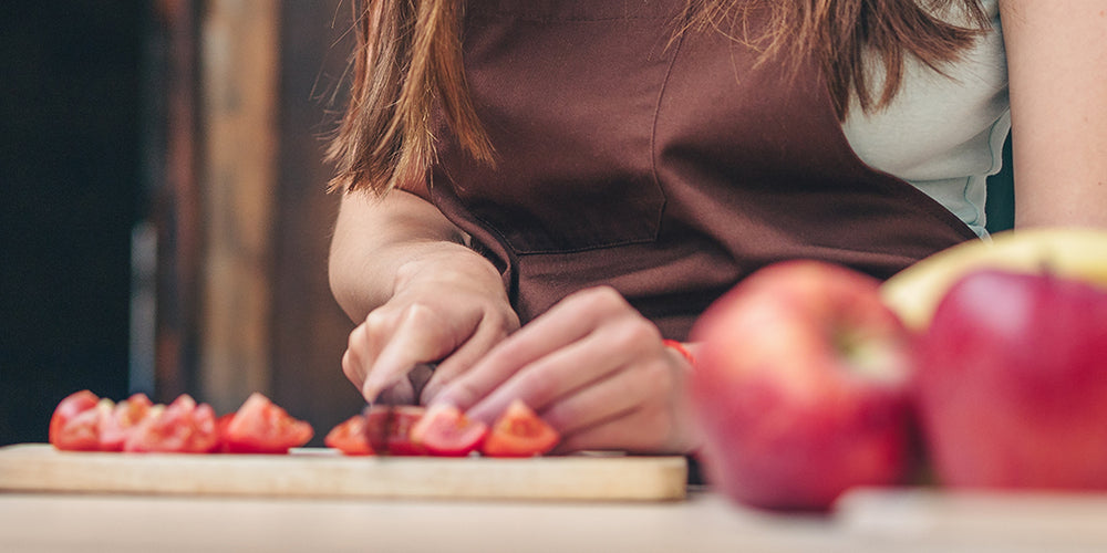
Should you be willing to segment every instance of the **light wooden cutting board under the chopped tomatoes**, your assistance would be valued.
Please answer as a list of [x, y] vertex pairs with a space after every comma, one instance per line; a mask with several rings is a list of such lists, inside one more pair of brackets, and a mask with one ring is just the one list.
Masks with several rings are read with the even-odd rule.
[[291, 498], [664, 501], [685, 497], [683, 457], [529, 459], [58, 451], [0, 448], [0, 491]]

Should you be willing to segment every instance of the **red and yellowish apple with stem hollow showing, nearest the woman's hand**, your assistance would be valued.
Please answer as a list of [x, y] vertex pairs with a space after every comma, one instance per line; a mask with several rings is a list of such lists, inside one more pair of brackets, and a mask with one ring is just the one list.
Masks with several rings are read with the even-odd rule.
[[732, 499], [825, 510], [851, 487], [906, 479], [912, 340], [876, 279], [776, 263], [711, 305], [692, 338], [701, 458]]

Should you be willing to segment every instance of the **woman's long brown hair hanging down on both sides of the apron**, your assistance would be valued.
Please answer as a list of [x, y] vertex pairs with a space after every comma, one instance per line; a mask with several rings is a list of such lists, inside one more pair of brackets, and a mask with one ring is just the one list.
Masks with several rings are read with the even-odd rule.
[[[331, 189], [368, 188], [383, 194], [425, 178], [434, 160], [431, 115], [439, 108], [463, 148], [494, 163], [493, 146], [469, 100], [462, 64], [464, 0], [353, 0], [356, 30], [349, 106], [331, 143], [337, 164]], [[755, 9], [769, 24], [745, 28]], [[935, 13], [958, 13], [965, 27]], [[723, 32], [798, 66], [814, 52], [840, 118], [856, 93], [862, 109], [894, 97], [904, 54], [928, 66], [956, 60], [987, 20], [980, 0], [689, 0], [680, 32]], [[883, 62], [879, 98], [865, 56]]]

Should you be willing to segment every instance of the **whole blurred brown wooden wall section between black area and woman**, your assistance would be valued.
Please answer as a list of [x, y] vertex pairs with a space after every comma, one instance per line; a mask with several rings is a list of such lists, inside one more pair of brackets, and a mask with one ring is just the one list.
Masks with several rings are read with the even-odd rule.
[[363, 401], [342, 375], [353, 324], [330, 293], [339, 197], [325, 136], [342, 106], [351, 4], [159, 0], [166, 83], [156, 397], [219, 413], [251, 392], [317, 429]]

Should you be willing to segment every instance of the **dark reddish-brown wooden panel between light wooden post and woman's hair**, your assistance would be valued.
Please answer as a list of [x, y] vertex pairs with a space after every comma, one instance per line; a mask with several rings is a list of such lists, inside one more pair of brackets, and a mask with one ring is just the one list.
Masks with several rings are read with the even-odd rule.
[[342, 106], [350, 12], [349, 1], [325, 0], [288, 1], [281, 13], [272, 385], [275, 398], [291, 413], [309, 416], [319, 434], [364, 405], [342, 375], [353, 324], [334, 302], [327, 278], [339, 197], [325, 191], [332, 168], [323, 153]]

